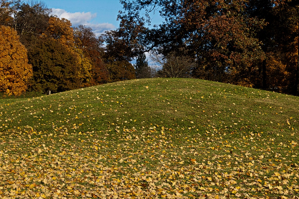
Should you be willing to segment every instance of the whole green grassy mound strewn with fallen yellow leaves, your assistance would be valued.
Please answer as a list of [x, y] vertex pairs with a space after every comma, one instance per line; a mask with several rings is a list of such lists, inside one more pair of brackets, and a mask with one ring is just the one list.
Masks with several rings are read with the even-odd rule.
[[299, 198], [299, 97], [140, 79], [0, 100], [0, 198]]

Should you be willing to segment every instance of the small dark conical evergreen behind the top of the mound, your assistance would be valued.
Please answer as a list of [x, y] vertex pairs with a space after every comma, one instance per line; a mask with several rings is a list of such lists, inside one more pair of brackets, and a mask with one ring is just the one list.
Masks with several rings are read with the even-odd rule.
[[144, 53], [138, 55], [134, 67], [135, 67], [135, 74], [137, 79], [151, 77], [151, 68], [148, 66], [146, 56]]

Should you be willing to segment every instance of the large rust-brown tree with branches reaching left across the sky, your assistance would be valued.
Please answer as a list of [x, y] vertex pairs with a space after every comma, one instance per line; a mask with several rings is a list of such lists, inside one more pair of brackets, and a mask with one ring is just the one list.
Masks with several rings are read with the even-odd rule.
[[[187, 56], [198, 61], [196, 77], [249, 84], [256, 61], [263, 59], [255, 34], [264, 23], [247, 14], [248, 1], [121, 1], [118, 31], [135, 51], [157, 49], [166, 56], [187, 48]], [[164, 22], [150, 29], [146, 24], [157, 9]], [[234, 78], [228, 78], [229, 74]]]

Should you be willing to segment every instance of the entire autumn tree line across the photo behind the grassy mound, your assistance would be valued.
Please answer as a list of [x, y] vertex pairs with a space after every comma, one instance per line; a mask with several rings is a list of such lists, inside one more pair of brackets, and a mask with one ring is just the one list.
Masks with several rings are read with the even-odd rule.
[[[151, 77], [150, 52], [155, 76], [298, 95], [297, 0], [120, 0], [120, 26], [98, 38], [43, 2], [0, 2], [0, 91], [7, 94]], [[153, 14], [163, 22], [151, 24]]]

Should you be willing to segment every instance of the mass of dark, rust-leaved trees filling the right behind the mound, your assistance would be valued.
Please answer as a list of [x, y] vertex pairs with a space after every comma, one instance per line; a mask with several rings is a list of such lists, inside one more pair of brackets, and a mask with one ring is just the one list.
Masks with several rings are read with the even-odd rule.
[[[161, 76], [298, 95], [297, 0], [120, 2], [113, 34], [133, 56], [150, 50], [163, 65]], [[154, 13], [164, 22], [151, 24]]]

